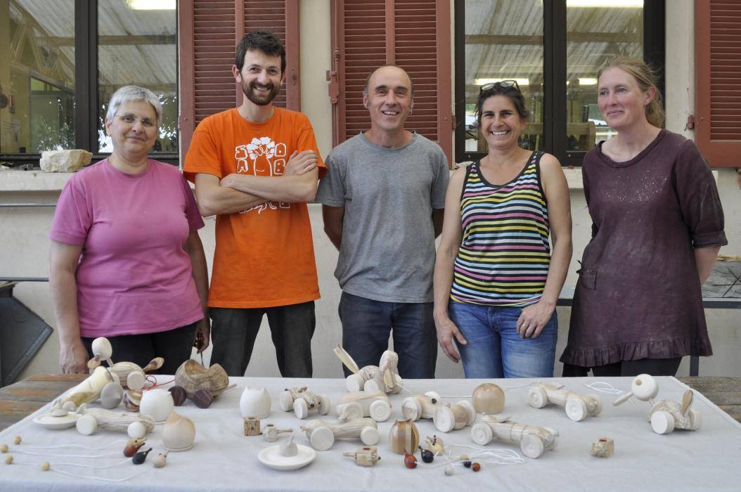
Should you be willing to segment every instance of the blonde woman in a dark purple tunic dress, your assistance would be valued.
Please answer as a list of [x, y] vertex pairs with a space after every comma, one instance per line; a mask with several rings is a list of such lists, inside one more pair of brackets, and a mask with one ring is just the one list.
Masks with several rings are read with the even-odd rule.
[[718, 190], [694, 142], [662, 129], [645, 62], [614, 59], [597, 79], [599, 111], [617, 136], [582, 165], [592, 239], [564, 375], [674, 376], [682, 356], [712, 353], [700, 287], [727, 244]]

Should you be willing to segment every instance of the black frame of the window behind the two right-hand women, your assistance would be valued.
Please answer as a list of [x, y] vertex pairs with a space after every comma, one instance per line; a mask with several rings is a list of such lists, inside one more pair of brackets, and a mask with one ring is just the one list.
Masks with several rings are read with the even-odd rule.
[[[456, 162], [481, 159], [485, 152], [465, 150], [465, 0], [453, 0], [455, 59]], [[566, 128], [566, 0], [543, 1], [543, 150], [563, 166], [581, 166], [583, 150], [567, 151], [566, 135], [556, 138], [560, 124]], [[645, 0], [643, 5], [643, 58], [659, 69], [659, 90], [664, 93], [665, 0]], [[558, 90], [556, 90], [556, 88]], [[561, 108], [558, 110], [558, 108]]]

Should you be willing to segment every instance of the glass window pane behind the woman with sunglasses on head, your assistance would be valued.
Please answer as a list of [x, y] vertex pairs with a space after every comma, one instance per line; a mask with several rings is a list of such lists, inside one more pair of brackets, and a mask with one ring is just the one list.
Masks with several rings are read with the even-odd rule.
[[516, 80], [530, 111], [522, 147], [543, 148], [542, 0], [465, 0], [465, 151], [485, 152], [476, 102], [488, 82]]

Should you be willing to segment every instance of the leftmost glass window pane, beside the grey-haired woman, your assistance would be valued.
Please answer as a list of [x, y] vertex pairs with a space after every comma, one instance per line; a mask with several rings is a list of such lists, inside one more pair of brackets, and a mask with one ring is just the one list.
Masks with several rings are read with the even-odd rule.
[[0, 153], [74, 148], [75, 1], [0, 1]]

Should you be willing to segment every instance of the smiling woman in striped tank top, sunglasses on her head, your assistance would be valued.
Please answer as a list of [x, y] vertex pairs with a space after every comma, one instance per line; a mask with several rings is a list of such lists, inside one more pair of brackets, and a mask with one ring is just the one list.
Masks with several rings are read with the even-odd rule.
[[568, 185], [554, 156], [519, 146], [528, 110], [515, 81], [482, 86], [476, 111], [488, 154], [448, 185], [437, 339], [467, 378], [553, 376], [556, 300], [571, 260]]

